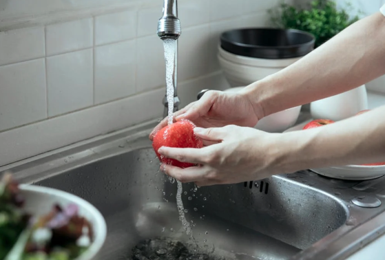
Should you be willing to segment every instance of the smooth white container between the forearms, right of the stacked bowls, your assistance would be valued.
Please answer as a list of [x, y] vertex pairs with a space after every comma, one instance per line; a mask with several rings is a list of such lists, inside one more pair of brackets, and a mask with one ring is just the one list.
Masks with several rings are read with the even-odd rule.
[[313, 101], [310, 104], [313, 119], [331, 119], [333, 121], [353, 117], [366, 109], [368, 109], [368, 95], [365, 85], [333, 97]]

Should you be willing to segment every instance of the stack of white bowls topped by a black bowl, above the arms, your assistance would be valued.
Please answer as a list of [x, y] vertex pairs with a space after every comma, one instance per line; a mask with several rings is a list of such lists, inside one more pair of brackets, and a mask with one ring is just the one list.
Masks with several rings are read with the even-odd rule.
[[313, 35], [300, 30], [230, 30], [220, 36], [218, 60], [231, 87], [247, 86], [295, 63], [313, 48]]

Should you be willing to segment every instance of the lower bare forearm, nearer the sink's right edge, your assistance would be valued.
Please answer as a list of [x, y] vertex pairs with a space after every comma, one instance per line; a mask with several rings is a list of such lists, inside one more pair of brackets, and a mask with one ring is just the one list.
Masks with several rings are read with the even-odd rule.
[[385, 106], [336, 123], [280, 136], [284, 172], [385, 161]]

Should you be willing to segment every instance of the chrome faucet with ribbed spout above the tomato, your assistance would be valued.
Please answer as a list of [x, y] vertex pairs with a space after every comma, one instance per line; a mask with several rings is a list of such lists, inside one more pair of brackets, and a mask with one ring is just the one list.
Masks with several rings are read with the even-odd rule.
[[[173, 74], [173, 83], [174, 83], [174, 112], [179, 109], [180, 100], [178, 98], [178, 93], [176, 92], [177, 86], [177, 74], [178, 74], [178, 38], [180, 36], [180, 21], [178, 19], [178, 3], [177, 0], [164, 0], [163, 6], [163, 17], [158, 21], [158, 37], [160, 39], [175, 39], [175, 63], [174, 63], [174, 74]], [[167, 90], [166, 90], [167, 91]], [[168, 112], [168, 102], [167, 102], [167, 92], [163, 99], [163, 105], [165, 110], [163, 112], [163, 117], [167, 117]]]

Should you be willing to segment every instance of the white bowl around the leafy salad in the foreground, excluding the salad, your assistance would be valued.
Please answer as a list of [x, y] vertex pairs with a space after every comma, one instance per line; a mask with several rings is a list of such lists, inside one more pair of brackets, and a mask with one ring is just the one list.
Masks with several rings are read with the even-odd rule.
[[55, 203], [63, 207], [70, 203], [79, 206], [79, 215], [85, 217], [92, 225], [94, 241], [86, 252], [74, 260], [96, 259], [96, 254], [101, 250], [107, 236], [107, 225], [101, 212], [84, 199], [61, 190], [33, 185], [20, 185], [20, 192], [25, 197], [23, 208], [34, 216], [47, 214], [52, 210], [52, 206]]

